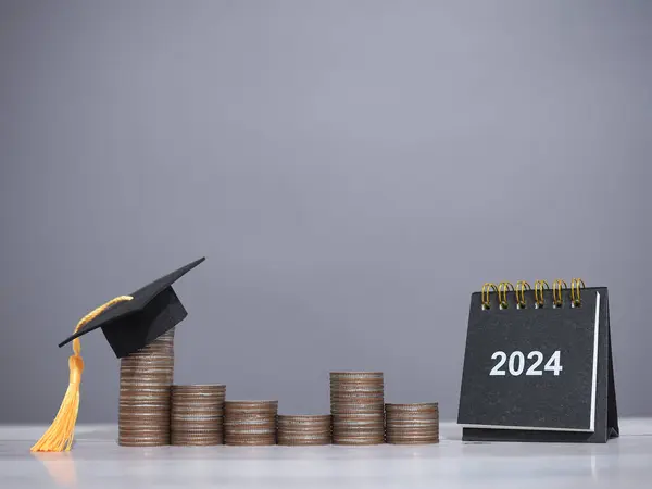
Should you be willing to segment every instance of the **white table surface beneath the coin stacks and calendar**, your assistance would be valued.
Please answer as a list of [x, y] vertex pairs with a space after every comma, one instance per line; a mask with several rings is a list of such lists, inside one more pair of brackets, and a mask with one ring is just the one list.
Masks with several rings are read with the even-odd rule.
[[466, 443], [442, 424], [422, 447], [124, 448], [115, 426], [78, 426], [67, 453], [33, 454], [42, 426], [0, 425], [0, 488], [652, 489], [652, 419], [607, 444]]

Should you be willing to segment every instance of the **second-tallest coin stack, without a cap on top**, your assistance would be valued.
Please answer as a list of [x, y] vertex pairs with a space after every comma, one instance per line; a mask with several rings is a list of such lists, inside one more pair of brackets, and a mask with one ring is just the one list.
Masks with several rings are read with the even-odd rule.
[[385, 441], [385, 384], [380, 372], [330, 373], [334, 444]]

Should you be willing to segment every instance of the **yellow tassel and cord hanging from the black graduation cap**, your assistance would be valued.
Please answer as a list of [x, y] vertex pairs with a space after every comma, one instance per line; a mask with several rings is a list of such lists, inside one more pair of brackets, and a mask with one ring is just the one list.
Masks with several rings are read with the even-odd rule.
[[[75, 328], [75, 333], [77, 333], [85, 324], [99, 316], [108, 308], [111, 308], [118, 302], [130, 301], [131, 299], [130, 296], [120, 296], [105, 304], [100, 305], [79, 321]], [[52, 425], [50, 425], [40, 440], [32, 447], [33, 452], [67, 452], [73, 446], [75, 423], [77, 422], [77, 413], [79, 411], [79, 385], [82, 384], [82, 372], [84, 371], [84, 360], [82, 360], [80, 352], [82, 344], [79, 338], [75, 338], [73, 340], [74, 354], [68, 359], [71, 376], [67, 390], [65, 391], [57, 417], [54, 417]]]

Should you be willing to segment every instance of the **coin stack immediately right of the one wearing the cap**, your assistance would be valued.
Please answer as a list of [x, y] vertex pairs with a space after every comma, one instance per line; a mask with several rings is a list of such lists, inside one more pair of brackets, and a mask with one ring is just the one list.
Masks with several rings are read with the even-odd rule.
[[224, 443], [224, 385], [172, 386], [171, 444]]

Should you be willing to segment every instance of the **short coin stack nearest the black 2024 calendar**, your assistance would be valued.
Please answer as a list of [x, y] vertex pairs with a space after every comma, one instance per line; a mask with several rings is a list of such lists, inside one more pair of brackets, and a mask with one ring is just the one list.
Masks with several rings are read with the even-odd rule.
[[386, 404], [387, 442], [427, 444], [439, 442], [439, 404]]

